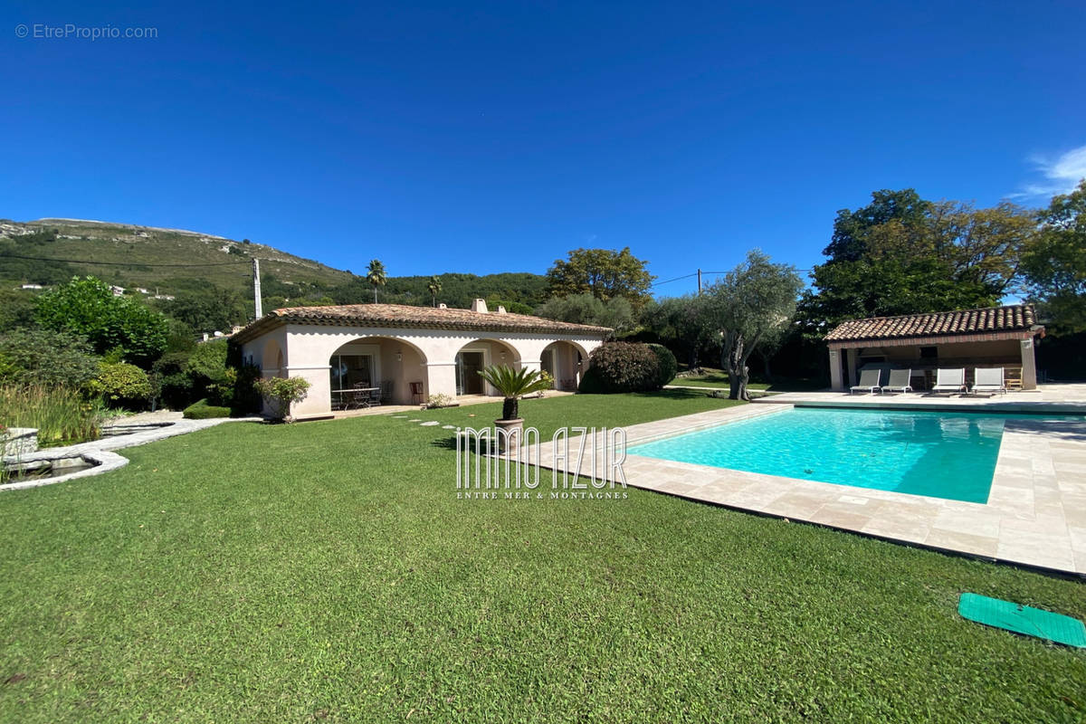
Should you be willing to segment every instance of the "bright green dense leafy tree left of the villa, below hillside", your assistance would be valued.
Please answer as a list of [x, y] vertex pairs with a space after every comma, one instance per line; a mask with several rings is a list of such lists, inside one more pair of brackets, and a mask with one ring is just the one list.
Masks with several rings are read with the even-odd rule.
[[148, 367], [166, 348], [168, 323], [139, 300], [114, 296], [93, 277], [72, 281], [38, 297], [35, 318], [46, 329], [86, 336], [99, 354], [119, 352]]

